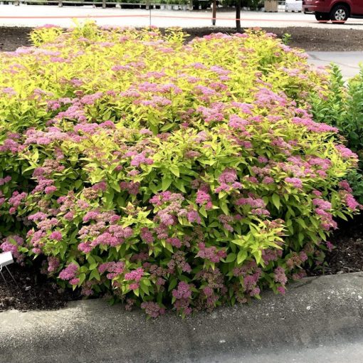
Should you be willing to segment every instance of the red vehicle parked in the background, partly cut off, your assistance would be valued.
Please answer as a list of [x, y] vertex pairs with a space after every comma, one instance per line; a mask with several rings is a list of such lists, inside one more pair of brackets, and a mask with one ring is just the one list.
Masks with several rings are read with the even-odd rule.
[[315, 14], [318, 21], [345, 23], [348, 18], [363, 18], [363, 0], [302, 0], [302, 11]]

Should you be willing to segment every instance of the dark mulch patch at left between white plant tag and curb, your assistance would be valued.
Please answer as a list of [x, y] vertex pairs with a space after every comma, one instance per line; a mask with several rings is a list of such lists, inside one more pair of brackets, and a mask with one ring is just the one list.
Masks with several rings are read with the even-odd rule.
[[80, 299], [78, 292], [62, 290], [56, 283], [47, 280], [45, 275], [39, 273], [38, 265], [22, 268], [14, 263], [8, 267], [16, 283], [6, 268], [3, 268], [2, 273], [7, 283], [0, 275], [0, 312], [7, 309], [58, 309], [70, 300]]

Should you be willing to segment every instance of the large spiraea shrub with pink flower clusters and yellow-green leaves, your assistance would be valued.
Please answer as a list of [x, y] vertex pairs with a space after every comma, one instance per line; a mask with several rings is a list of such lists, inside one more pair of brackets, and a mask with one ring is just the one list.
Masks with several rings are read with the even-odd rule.
[[48, 26], [0, 55], [2, 250], [152, 317], [284, 294], [360, 207], [302, 51], [184, 37]]

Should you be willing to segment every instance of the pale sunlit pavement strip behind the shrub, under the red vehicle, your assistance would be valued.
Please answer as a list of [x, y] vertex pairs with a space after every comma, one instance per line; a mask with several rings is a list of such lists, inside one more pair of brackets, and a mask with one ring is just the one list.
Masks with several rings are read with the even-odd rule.
[[[59, 26], [71, 26], [72, 18], [96, 19], [100, 25], [148, 26], [149, 11], [142, 9], [93, 9], [92, 6], [41, 6], [41, 5], [0, 5], [0, 26], [41, 26], [53, 23]], [[151, 23], [154, 26], [211, 26], [211, 10], [208, 11], [151, 11]], [[58, 18], [61, 16], [61, 18]], [[17, 18], [22, 17], [22, 18]], [[32, 19], [32, 17], [37, 17]], [[216, 26], [234, 26], [233, 11], [217, 11]], [[263, 11], [242, 11], [242, 26], [309, 26], [315, 28], [363, 29], [363, 19], [349, 19], [345, 24], [318, 23], [313, 15], [302, 13], [265, 13]]]

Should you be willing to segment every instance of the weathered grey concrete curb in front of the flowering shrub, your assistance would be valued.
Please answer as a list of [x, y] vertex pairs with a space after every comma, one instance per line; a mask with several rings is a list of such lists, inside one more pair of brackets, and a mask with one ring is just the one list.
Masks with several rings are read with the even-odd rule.
[[173, 313], [146, 320], [140, 310], [126, 312], [104, 300], [71, 302], [56, 311], [0, 314], [1, 363], [260, 362], [251, 354], [360, 340], [363, 273], [303, 279], [290, 285], [285, 297], [266, 292], [251, 305], [222, 307], [185, 320]]

